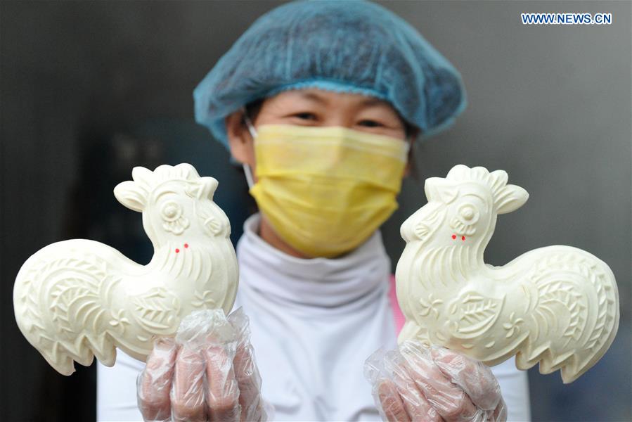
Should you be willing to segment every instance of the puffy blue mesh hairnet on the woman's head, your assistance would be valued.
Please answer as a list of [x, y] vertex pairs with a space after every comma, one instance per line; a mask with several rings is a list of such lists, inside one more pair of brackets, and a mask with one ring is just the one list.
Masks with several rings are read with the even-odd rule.
[[195, 87], [195, 121], [228, 148], [224, 117], [314, 87], [375, 96], [432, 136], [466, 104], [459, 72], [415, 28], [370, 1], [292, 1], [260, 16]]

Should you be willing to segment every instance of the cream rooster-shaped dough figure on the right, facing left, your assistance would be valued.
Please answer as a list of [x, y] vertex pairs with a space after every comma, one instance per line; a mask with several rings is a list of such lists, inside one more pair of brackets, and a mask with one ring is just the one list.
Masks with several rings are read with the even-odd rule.
[[508, 264], [483, 254], [498, 214], [529, 197], [503, 170], [457, 165], [425, 181], [428, 203], [401, 225], [406, 248], [396, 293], [408, 339], [457, 350], [488, 365], [515, 354], [518, 369], [540, 362], [570, 383], [606, 352], [619, 326], [610, 267], [570, 246], [548, 246]]

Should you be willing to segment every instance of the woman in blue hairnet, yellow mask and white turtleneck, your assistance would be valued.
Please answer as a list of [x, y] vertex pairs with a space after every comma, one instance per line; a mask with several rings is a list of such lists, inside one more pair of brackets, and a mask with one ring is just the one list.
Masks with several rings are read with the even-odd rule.
[[[252, 338], [242, 316], [229, 317], [243, 333], [232, 364], [215, 348], [192, 364], [158, 342], [139, 380], [146, 418], [529, 419], [526, 373], [510, 361], [492, 370], [498, 389], [486, 367], [408, 343], [369, 359], [373, 386], [363, 375], [375, 350], [396, 350], [399, 329], [379, 226], [418, 134], [441, 132], [465, 108], [460, 75], [413, 27], [365, 1], [284, 4], [194, 97], [196, 120], [243, 164], [259, 206], [237, 245], [236, 308]], [[380, 366], [392, 379], [373, 376]], [[99, 420], [141, 420], [142, 369], [122, 353], [113, 369], [99, 366]], [[157, 381], [182, 393], [169, 397]], [[129, 411], [117, 413], [121, 402]]]

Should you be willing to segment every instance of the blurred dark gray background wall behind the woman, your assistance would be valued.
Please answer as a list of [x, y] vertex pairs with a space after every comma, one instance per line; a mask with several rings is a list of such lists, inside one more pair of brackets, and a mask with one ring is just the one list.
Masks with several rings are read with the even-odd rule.
[[[15, 326], [12, 287], [48, 243], [105, 241], [146, 263], [140, 215], [112, 188], [131, 167], [191, 162], [220, 180], [233, 241], [254, 210], [243, 174], [193, 122], [192, 90], [278, 2], [0, 3], [0, 414], [7, 421], [94, 418], [94, 367], [65, 378]], [[593, 252], [621, 294], [619, 335], [578, 381], [529, 372], [534, 420], [623, 421], [631, 415], [631, 3], [385, 2], [460, 70], [469, 106], [419, 144], [420, 179], [452, 165], [508, 171], [529, 191], [498, 219], [491, 264], [552, 244]], [[521, 12], [609, 12], [612, 25], [527, 26]], [[152, 167], [152, 168], [153, 168]], [[407, 180], [382, 227], [395, 264], [399, 224], [425, 203]]]

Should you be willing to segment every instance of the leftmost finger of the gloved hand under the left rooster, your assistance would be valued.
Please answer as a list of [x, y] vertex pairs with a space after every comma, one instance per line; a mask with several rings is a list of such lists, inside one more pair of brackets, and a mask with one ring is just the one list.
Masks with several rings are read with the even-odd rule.
[[172, 338], [160, 338], [147, 358], [138, 377], [138, 409], [149, 421], [166, 421], [171, 417], [169, 391], [174, 376], [178, 347]]

